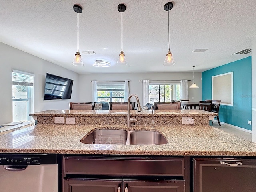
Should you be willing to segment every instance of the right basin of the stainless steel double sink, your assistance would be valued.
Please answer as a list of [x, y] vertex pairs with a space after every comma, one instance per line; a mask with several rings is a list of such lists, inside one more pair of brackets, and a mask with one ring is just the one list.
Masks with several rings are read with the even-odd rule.
[[134, 131], [130, 134], [130, 145], [162, 145], [168, 141], [156, 131]]

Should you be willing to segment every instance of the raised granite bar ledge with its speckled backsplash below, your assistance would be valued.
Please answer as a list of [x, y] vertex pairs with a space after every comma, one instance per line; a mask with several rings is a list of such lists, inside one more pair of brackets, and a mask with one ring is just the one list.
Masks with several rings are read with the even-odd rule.
[[[154, 121], [161, 126], [182, 125], [182, 117], [194, 119], [194, 125], [208, 125], [209, 118], [214, 118], [217, 113], [203, 110], [153, 110]], [[47, 110], [30, 114], [38, 124], [55, 124], [55, 117], [75, 117], [78, 125], [126, 125], [127, 110]], [[138, 122], [134, 125], [150, 126], [152, 111], [130, 110], [130, 116], [138, 116]]]

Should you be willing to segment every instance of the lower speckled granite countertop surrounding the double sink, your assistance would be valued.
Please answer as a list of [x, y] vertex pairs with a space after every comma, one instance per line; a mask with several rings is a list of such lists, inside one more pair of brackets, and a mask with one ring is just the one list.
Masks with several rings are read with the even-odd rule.
[[[156, 130], [168, 140], [163, 145], [83, 144], [95, 129]], [[0, 136], [0, 153], [59, 153], [172, 156], [256, 156], [256, 143], [212, 126], [97, 126], [36, 125]]]

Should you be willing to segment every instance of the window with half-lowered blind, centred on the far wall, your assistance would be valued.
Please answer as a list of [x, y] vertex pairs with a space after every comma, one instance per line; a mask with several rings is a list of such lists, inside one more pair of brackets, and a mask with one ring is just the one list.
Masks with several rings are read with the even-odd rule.
[[124, 102], [124, 82], [97, 82], [98, 102]]

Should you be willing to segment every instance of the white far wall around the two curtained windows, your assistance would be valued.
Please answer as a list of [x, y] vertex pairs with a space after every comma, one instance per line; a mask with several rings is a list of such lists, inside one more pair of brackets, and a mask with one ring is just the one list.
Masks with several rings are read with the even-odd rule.
[[[167, 66], [171, 67], [171, 66]], [[195, 83], [198, 89], [188, 89], [188, 95], [191, 102], [202, 100], [202, 80], [199, 72], [195, 73]], [[136, 94], [140, 101], [142, 99], [140, 80], [192, 80], [188, 82], [188, 87], [193, 83], [193, 72], [190, 73], [120, 73], [120, 74], [80, 74], [79, 83], [79, 102], [92, 101], [92, 80], [111, 81], [111, 80], [130, 80], [130, 94]], [[194, 99], [192, 99], [194, 97]], [[132, 98], [132, 101], [135, 101]]]

